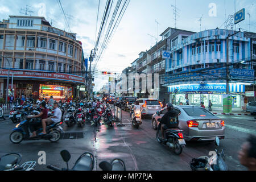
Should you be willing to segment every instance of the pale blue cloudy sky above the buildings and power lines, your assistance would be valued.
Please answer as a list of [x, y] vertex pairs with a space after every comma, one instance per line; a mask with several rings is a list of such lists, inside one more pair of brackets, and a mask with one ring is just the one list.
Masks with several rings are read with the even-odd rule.
[[[71, 31], [77, 33], [77, 39], [82, 42], [85, 56], [89, 56], [96, 40], [99, 0], [60, 0], [60, 2], [67, 15]], [[228, 15], [234, 14], [235, 2], [237, 11], [242, 8], [245, 8], [246, 11], [246, 19], [236, 28], [241, 27], [242, 31], [249, 31], [250, 28], [250, 31], [256, 32], [256, 3], [254, 0], [176, 1], [176, 7], [179, 9], [176, 27], [199, 32], [199, 19], [203, 15], [201, 30], [224, 28], [225, 14], [226, 18]], [[112, 9], [114, 9], [115, 3], [117, 0], [114, 0]], [[0, 0], [0, 5], [0, 19], [8, 19], [9, 15], [23, 15], [20, 13], [21, 9], [26, 9], [26, 5], [28, 5], [28, 9], [34, 11], [31, 15], [44, 15], [50, 23], [52, 22], [53, 27], [68, 31], [57, 0]], [[105, 5], [106, 0], [100, 0], [98, 28]], [[109, 46], [98, 61], [98, 72], [122, 72], [138, 58], [138, 53], [154, 46], [155, 38], [152, 36], [160, 40], [158, 35], [167, 27], [175, 27], [172, 5], [175, 5], [175, 0], [131, 0]], [[250, 26], [247, 13], [250, 14]], [[158, 28], [156, 21], [159, 22]], [[100, 74], [96, 74], [96, 77], [95, 90], [98, 90], [105, 84], [107, 78]]]

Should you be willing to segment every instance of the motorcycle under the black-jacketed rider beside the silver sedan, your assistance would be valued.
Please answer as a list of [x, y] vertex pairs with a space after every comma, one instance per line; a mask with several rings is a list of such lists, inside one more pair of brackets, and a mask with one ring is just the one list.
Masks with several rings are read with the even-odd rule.
[[[176, 118], [174, 118], [176, 119]], [[183, 148], [185, 147], [186, 143], [183, 137], [183, 134], [181, 133], [183, 130], [180, 129], [168, 129], [164, 131], [166, 133], [166, 142], [163, 142], [163, 140], [160, 138], [161, 134], [161, 123], [160, 119], [158, 119], [159, 123], [157, 126], [156, 131], [156, 140], [158, 140], [159, 143], [163, 143], [166, 146], [172, 148], [174, 150], [174, 153], [176, 155], [180, 155]]]

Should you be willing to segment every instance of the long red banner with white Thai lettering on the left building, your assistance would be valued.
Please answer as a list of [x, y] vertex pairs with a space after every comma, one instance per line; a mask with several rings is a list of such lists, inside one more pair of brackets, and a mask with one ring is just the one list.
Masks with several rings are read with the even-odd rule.
[[[49, 73], [42, 71], [21, 71], [21, 70], [10, 70], [10, 78], [14, 74], [14, 77], [22, 78], [42, 78], [43, 80], [61, 80], [70, 82], [79, 82], [84, 84], [85, 78], [76, 75], [69, 75], [65, 73]], [[7, 77], [8, 70], [0, 69], [0, 77]]]

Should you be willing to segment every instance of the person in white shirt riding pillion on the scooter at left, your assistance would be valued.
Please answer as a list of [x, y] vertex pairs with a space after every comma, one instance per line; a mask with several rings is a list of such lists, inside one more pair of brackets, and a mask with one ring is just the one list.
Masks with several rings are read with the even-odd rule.
[[52, 117], [49, 117], [47, 119], [42, 119], [42, 127], [43, 127], [43, 131], [42, 133], [40, 133], [39, 135], [44, 135], [46, 134], [46, 123], [51, 123], [51, 122], [60, 122], [61, 121], [61, 116], [62, 116], [62, 113], [61, 113], [61, 110], [59, 108], [59, 105], [57, 104], [57, 102], [55, 102], [53, 104], [53, 108], [54, 108], [54, 114]]

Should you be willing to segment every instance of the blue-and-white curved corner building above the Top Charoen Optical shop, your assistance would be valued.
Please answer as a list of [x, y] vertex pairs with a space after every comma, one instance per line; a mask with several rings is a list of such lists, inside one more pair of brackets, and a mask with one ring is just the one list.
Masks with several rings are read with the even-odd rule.
[[[243, 32], [218, 28], [187, 38], [182, 36], [175, 35], [168, 49], [171, 59], [166, 60], [163, 80], [164, 86], [168, 87], [170, 102], [185, 104], [189, 101], [191, 105], [200, 105], [203, 101], [208, 106], [210, 100], [213, 106], [222, 107], [226, 80], [229, 79], [233, 107], [245, 107], [245, 86], [255, 84], [251, 40]], [[229, 78], [226, 74], [227, 56]]]

